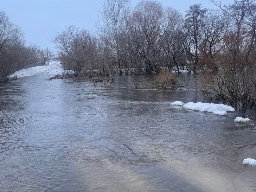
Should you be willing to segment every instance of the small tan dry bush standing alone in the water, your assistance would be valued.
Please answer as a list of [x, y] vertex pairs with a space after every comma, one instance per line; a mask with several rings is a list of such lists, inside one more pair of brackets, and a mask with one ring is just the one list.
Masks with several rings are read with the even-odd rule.
[[169, 88], [179, 85], [179, 78], [166, 69], [161, 69], [153, 81], [155, 88]]

